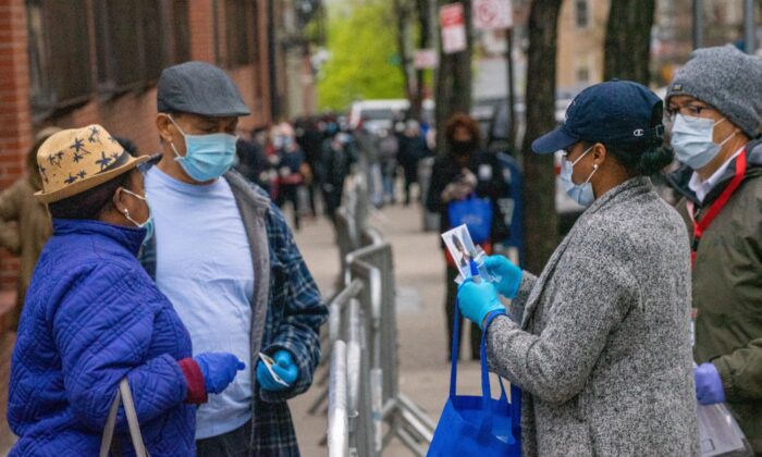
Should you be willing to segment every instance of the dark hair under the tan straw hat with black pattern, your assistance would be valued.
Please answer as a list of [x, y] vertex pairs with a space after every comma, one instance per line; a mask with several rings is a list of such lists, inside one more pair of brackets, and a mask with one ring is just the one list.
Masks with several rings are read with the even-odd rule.
[[131, 173], [132, 170], [82, 194], [49, 203], [50, 215], [56, 219], [98, 219], [113, 207], [113, 195], [118, 188], [131, 189]]

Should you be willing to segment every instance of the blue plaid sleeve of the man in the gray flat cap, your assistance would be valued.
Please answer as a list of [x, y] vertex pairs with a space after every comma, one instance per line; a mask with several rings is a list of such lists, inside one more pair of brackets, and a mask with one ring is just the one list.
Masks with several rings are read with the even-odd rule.
[[283, 213], [274, 206], [267, 217], [271, 251], [271, 302], [268, 310], [270, 337], [263, 351], [286, 349], [294, 356], [299, 376], [292, 388], [260, 391], [265, 402], [282, 402], [307, 391], [320, 360], [320, 326], [328, 319], [318, 286], [307, 269]]

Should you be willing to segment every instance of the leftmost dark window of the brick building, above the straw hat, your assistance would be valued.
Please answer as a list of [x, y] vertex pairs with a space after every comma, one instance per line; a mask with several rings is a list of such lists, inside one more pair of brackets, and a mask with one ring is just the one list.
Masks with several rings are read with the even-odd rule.
[[29, 99], [35, 118], [87, 101], [93, 91], [85, 0], [27, 0]]

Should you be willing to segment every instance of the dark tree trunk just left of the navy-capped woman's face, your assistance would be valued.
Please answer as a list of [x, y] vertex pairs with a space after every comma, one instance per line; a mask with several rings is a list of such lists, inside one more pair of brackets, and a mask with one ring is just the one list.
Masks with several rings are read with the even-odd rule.
[[553, 155], [536, 155], [531, 143], [555, 127], [555, 64], [562, 0], [534, 0], [529, 13], [527, 132], [524, 136], [525, 269], [540, 273], [558, 242]]

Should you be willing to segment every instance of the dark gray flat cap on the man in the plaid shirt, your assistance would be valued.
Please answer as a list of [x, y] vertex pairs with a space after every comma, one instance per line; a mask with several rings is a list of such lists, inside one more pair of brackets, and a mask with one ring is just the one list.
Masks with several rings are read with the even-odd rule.
[[156, 104], [159, 112], [212, 118], [251, 114], [228, 73], [207, 62], [185, 62], [164, 69], [156, 91]]

